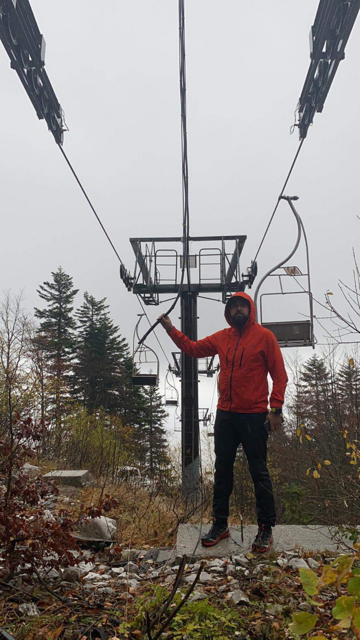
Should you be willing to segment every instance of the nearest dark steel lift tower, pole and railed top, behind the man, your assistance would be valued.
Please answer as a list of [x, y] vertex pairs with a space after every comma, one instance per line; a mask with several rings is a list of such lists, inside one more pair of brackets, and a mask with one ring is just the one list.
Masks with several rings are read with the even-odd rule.
[[[198, 339], [198, 296], [221, 294], [225, 304], [234, 292], [244, 291], [246, 286], [253, 284], [256, 263], [245, 275], [240, 272], [240, 255], [245, 241], [246, 236], [189, 239], [191, 284], [184, 283], [182, 287], [180, 319], [182, 333], [191, 340]], [[182, 238], [130, 238], [130, 243], [136, 256], [132, 291], [141, 296], [146, 305], [159, 305], [163, 301], [161, 296], [176, 296], [183, 266], [181, 250], [178, 252]], [[192, 499], [198, 493], [200, 480], [199, 373], [198, 360], [182, 353], [177, 365], [177, 375], [181, 378], [182, 484], [184, 495], [192, 496]]]

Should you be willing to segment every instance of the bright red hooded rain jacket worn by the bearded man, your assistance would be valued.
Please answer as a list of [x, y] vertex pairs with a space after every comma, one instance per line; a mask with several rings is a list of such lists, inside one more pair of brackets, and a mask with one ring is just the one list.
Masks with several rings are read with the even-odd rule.
[[189, 356], [204, 358], [219, 355], [218, 409], [239, 413], [267, 412], [268, 373], [272, 378], [270, 407], [281, 407], [284, 403], [288, 376], [283, 356], [274, 333], [255, 322], [255, 306], [250, 296], [243, 292], [237, 292], [234, 296], [245, 298], [251, 308], [241, 333], [230, 320], [231, 298], [225, 306], [230, 329], [223, 329], [196, 342], [189, 340], [175, 327], [168, 333], [176, 346]]

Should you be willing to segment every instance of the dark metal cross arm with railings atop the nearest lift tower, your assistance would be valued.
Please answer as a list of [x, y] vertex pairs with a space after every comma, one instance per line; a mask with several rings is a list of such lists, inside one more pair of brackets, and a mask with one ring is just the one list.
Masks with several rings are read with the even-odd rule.
[[[200, 243], [202, 246], [189, 256], [189, 267], [194, 277], [191, 285], [182, 285], [182, 291], [197, 295], [221, 294], [226, 303], [233, 292], [251, 287], [256, 265], [247, 269], [245, 275], [240, 272], [240, 256], [245, 241], [246, 236], [190, 237], [190, 246]], [[183, 256], [175, 246], [182, 243], [182, 238], [130, 238], [130, 243], [136, 257], [132, 291], [141, 296], [146, 305], [159, 305], [161, 294], [176, 295], [181, 286]], [[164, 248], [165, 243], [168, 246]]]

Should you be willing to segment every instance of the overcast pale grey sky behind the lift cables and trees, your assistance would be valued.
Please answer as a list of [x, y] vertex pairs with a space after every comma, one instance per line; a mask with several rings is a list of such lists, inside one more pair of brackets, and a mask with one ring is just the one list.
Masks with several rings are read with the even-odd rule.
[[[70, 128], [64, 148], [132, 270], [130, 236], [182, 232], [178, 3], [31, 0], [31, 6]], [[185, 2], [191, 234], [246, 234], [243, 269], [299, 144], [289, 129], [317, 6], [317, 0]], [[287, 189], [300, 196], [320, 299], [336, 290], [339, 276], [350, 280], [359, 236], [359, 36], [360, 19]], [[3, 47], [0, 76], [1, 289], [24, 288], [31, 309], [36, 287], [61, 264], [81, 294], [107, 297], [121, 333], [132, 340], [136, 298], [121, 283], [116, 257]], [[259, 255], [260, 275], [295, 242], [286, 207]], [[149, 314], [153, 319], [156, 310]], [[200, 337], [223, 326], [222, 305], [201, 301], [199, 315]], [[171, 351], [166, 335], [163, 342]], [[210, 387], [201, 383], [204, 403]]]

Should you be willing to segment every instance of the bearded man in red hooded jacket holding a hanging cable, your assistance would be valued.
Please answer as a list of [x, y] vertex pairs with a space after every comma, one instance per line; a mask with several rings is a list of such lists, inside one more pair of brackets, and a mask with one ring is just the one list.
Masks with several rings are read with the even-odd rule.
[[[255, 321], [253, 300], [246, 293], [231, 296], [225, 306], [230, 328], [193, 342], [178, 331], [168, 316], [160, 322], [176, 346], [194, 358], [219, 355], [219, 401], [214, 425], [215, 481], [212, 516], [214, 524], [202, 538], [212, 547], [228, 538], [229, 499], [233, 491], [233, 466], [240, 444], [244, 448], [254, 483], [258, 533], [253, 550], [265, 552], [272, 543], [276, 522], [272, 483], [267, 469], [267, 438], [281, 428], [286, 376], [276, 337]], [[267, 375], [272, 378], [270, 395]]]

